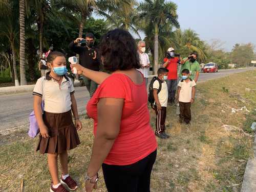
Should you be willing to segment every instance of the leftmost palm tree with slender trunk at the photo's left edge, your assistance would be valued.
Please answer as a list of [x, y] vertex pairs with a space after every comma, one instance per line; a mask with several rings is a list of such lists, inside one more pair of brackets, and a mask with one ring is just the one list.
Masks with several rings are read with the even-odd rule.
[[16, 67], [16, 42], [18, 35], [18, 4], [16, 1], [1, 1], [0, 7], [0, 36], [8, 39], [12, 50], [13, 74], [15, 86], [19, 86], [17, 67]]

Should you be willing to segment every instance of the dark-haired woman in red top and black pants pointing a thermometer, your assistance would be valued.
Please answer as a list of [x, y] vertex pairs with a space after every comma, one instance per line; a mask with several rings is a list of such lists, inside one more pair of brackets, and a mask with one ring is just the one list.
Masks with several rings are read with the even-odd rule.
[[100, 166], [109, 192], [150, 191], [157, 142], [150, 126], [144, 78], [136, 70], [140, 64], [135, 40], [127, 31], [112, 30], [102, 37], [100, 53], [111, 75], [71, 66], [100, 85], [87, 105], [95, 138], [86, 191], [95, 187]]

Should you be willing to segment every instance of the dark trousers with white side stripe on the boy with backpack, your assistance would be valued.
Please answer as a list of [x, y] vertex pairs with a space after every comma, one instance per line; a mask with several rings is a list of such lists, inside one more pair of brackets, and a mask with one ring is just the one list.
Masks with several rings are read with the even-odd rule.
[[166, 107], [162, 107], [161, 110], [155, 106], [156, 118], [156, 134], [165, 131], [165, 119], [166, 119]]

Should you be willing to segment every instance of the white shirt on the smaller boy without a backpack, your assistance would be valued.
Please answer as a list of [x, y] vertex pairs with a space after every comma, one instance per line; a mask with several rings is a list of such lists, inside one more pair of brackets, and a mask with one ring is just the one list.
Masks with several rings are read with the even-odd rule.
[[194, 80], [185, 82], [185, 80], [180, 81], [178, 87], [181, 87], [179, 102], [189, 103], [192, 98], [192, 87], [196, 86]]

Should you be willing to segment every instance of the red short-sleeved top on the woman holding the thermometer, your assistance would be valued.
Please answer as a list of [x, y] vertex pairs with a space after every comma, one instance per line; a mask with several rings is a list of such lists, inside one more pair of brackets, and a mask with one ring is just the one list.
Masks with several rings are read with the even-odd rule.
[[124, 99], [120, 132], [104, 163], [129, 165], [156, 150], [157, 142], [150, 126], [145, 82], [137, 85], [124, 74], [112, 74], [105, 79], [87, 104], [87, 113], [94, 119], [94, 135], [97, 131], [97, 103], [100, 98]]

